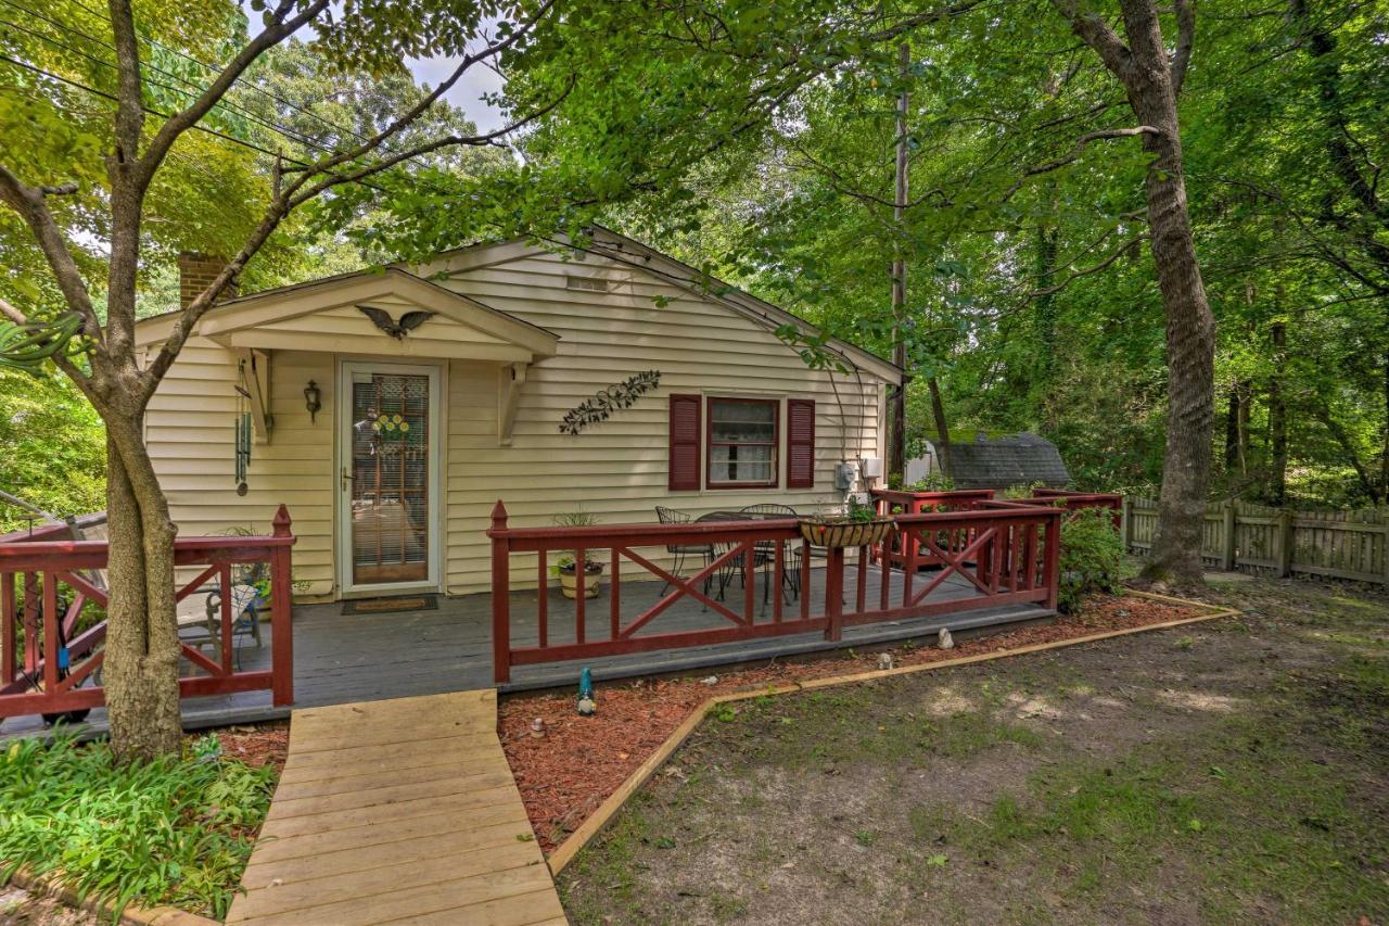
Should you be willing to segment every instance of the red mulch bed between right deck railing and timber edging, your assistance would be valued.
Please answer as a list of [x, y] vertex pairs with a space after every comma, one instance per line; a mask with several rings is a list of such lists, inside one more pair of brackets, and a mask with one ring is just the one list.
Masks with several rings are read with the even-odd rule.
[[[1079, 615], [1050, 624], [963, 641], [954, 649], [899, 647], [892, 652], [896, 665], [910, 666], [1200, 613], [1143, 598], [1103, 596], [1089, 601]], [[600, 685], [593, 717], [575, 712], [572, 694], [518, 695], [503, 701], [499, 706], [501, 745], [540, 847], [550, 852], [563, 843], [710, 695], [868, 672], [878, 667], [876, 652], [718, 672], [717, 684], [704, 684], [696, 677]], [[544, 720], [543, 738], [531, 736], [535, 717]]]

